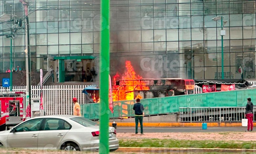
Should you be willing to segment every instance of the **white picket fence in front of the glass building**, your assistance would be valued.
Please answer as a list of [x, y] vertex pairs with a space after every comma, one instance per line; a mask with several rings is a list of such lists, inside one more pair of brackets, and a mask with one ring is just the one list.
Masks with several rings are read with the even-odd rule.
[[[249, 81], [256, 85], [256, 81]], [[80, 104], [85, 102], [85, 95], [82, 90], [90, 85], [54, 85], [43, 86], [43, 103], [46, 115], [73, 114], [72, 98], [76, 97]], [[0, 87], [0, 91], [10, 91], [9, 88]], [[26, 86], [13, 86], [12, 91], [26, 92]], [[39, 98], [40, 86], [31, 86], [31, 98]], [[202, 88], [195, 85], [194, 93], [202, 93]], [[23, 99], [26, 102], [26, 96]]]

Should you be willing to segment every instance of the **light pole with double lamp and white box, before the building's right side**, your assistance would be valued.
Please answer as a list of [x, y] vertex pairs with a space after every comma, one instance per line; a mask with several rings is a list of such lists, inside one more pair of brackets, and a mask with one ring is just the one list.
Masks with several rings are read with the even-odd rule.
[[[217, 16], [212, 18], [211, 20], [218, 21], [221, 19], [221, 79], [224, 79], [224, 54], [223, 54], [223, 36], [226, 35], [226, 30], [223, 29], [224, 25], [228, 22], [227, 20], [223, 20], [224, 16]], [[218, 73], [217, 73], [218, 74]]]

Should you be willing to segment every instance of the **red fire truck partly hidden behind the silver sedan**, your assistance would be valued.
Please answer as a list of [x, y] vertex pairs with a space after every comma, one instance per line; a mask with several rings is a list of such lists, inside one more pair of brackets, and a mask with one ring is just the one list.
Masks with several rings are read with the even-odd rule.
[[14, 126], [23, 121], [24, 92], [0, 92], [0, 130]]

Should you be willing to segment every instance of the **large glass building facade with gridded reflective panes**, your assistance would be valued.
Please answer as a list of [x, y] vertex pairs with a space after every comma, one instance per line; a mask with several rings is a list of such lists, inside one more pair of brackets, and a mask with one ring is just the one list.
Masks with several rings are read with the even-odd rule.
[[[24, 22], [18, 0], [1, 0], [0, 11]], [[54, 57], [99, 55], [100, 1], [29, 1], [33, 70], [57, 66]], [[255, 0], [111, 0], [111, 75], [130, 60], [144, 78], [255, 79]], [[104, 24], [104, 22], [103, 22]], [[1, 24], [0, 71], [10, 67], [10, 38]], [[25, 30], [13, 39], [13, 66], [25, 68]], [[104, 39], [104, 38], [103, 38]], [[75, 61], [75, 60], [74, 60]], [[98, 66], [96, 61], [86, 60]], [[239, 67], [242, 67], [240, 73]], [[244, 72], [244, 73], [243, 73]], [[79, 78], [79, 77], [78, 77]]]

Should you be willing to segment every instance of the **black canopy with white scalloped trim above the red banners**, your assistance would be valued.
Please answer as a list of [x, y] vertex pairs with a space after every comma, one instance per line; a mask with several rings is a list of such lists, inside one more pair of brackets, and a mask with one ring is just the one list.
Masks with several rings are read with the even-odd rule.
[[251, 87], [252, 84], [247, 82], [246, 80], [242, 79], [221, 79], [221, 80], [195, 80], [195, 85], [199, 87], [203, 87], [203, 85], [216, 85], [216, 86], [221, 86], [222, 84], [224, 85], [232, 85], [235, 84], [235, 87], [237, 89], [241, 88], [247, 88]]

